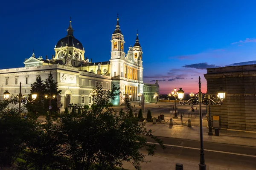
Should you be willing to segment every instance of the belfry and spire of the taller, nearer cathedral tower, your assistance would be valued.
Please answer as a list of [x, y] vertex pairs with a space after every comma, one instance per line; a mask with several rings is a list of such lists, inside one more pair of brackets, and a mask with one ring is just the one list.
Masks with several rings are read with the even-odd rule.
[[119, 17], [117, 14], [116, 29], [111, 37], [111, 59], [124, 59], [124, 36], [120, 30]]

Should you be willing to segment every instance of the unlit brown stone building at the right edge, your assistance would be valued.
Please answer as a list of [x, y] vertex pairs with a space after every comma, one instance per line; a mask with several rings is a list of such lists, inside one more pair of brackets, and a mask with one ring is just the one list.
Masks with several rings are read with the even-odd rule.
[[256, 131], [256, 65], [207, 68], [204, 77], [207, 93], [226, 92], [223, 105], [210, 107], [211, 119], [220, 116], [221, 129]]

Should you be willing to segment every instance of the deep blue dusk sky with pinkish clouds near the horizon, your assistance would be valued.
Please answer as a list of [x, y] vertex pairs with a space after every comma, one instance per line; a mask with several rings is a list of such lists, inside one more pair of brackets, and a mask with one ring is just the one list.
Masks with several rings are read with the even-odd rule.
[[0, 69], [23, 67], [24, 59], [54, 54], [67, 35], [74, 36], [93, 62], [108, 61], [119, 14], [124, 50], [138, 30], [144, 82], [158, 80], [160, 94], [174, 88], [207, 91], [207, 68], [256, 63], [255, 0], [14, 0], [4, 1]]

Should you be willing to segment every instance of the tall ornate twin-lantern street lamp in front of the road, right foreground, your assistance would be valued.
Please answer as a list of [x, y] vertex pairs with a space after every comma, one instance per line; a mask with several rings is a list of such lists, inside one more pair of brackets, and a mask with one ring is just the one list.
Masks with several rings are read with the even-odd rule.
[[180, 105], [186, 105], [186, 104], [193, 104], [193, 105], [198, 105], [199, 104], [199, 115], [200, 115], [200, 164], [199, 165], [199, 170], [205, 170], [206, 169], [206, 164], [204, 164], [204, 147], [203, 147], [203, 125], [202, 125], [202, 111], [201, 111], [201, 104], [204, 105], [209, 105], [209, 103], [214, 103], [216, 105], [222, 105], [223, 99], [225, 98], [225, 93], [220, 92], [218, 94], [218, 99], [212, 98], [210, 99], [209, 96], [206, 96], [206, 94], [202, 94], [201, 92], [201, 78], [199, 77], [199, 92], [198, 94], [195, 94], [195, 97], [189, 99], [188, 101], [184, 101], [183, 95], [184, 91], [182, 88], [178, 91], [178, 98], [180, 99]]

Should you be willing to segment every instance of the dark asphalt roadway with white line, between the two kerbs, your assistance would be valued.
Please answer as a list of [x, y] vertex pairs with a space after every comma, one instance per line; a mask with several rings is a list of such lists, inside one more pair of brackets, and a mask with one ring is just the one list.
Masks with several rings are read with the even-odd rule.
[[[180, 159], [185, 162], [198, 162], [199, 164], [200, 141], [159, 138], [163, 140], [166, 149], [163, 150], [157, 145], [155, 157]], [[154, 142], [154, 140], [148, 139], [148, 142]], [[145, 150], [143, 152], [145, 153]], [[218, 166], [234, 170], [256, 169], [256, 147], [204, 142], [204, 158], [205, 164], [208, 166]], [[145, 166], [142, 167], [145, 168]]]

